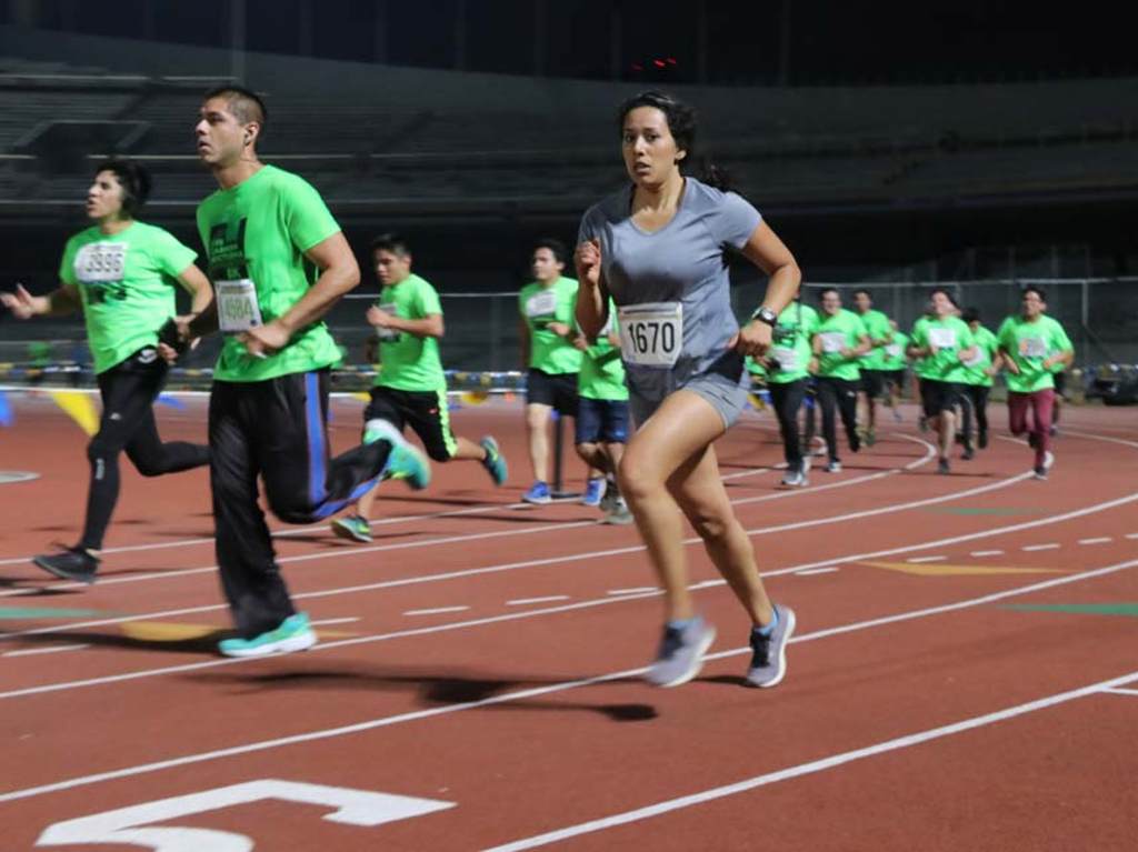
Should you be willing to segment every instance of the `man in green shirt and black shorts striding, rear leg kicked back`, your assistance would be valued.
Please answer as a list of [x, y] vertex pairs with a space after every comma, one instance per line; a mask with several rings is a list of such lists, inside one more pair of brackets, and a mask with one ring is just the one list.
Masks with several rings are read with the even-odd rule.
[[[397, 234], [382, 234], [371, 243], [372, 268], [381, 290], [368, 309], [368, 323], [376, 329], [368, 361], [374, 363], [378, 349], [379, 374], [364, 423], [384, 420], [401, 435], [410, 425], [432, 460], [476, 461], [500, 486], [506, 479], [506, 463], [497, 441], [486, 436], [475, 444], [451, 430], [446, 377], [438, 354], [445, 332], [443, 306], [430, 282], [411, 271], [412, 259], [407, 241]], [[332, 531], [341, 538], [371, 541], [368, 519], [374, 502], [372, 489], [356, 502], [354, 513], [332, 521]]]

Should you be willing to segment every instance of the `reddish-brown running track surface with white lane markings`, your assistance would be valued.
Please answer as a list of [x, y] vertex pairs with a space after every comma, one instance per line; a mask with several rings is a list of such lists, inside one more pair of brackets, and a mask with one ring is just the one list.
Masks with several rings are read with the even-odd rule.
[[[351, 442], [358, 407], [337, 405], [338, 445]], [[200, 437], [203, 411], [195, 402], [166, 414], [164, 433]], [[740, 686], [747, 626], [693, 543], [692, 581], [711, 582], [696, 599], [720, 638], [699, 681], [653, 690], [636, 672], [660, 601], [627, 592], [653, 585], [638, 538], [579, 506], [508, 506], [526, 485], [518, 408], [455, 416], [462, 433], [498, 436], [516, 462], [509, 488], [488, 488], [473, 465], [437, 466], [424, 495], [387, 489], [379, 505], [393, 522], [376, 527], [374, 549], [320, 529], [279, 538], [300, 604], [314, 619], [354, 620], [323, 628], [313, 653], [231, 663], [204, 642], [122, 632], [130, 618], [226, 623], [212, 547], [185, 541], [211, 531], [200, 472], [147, 481], [124, 465], [108, 546], [179, 544], [108, 554], [90, 589], [2, 562], [52, 533], [69, 539], [82, 511], [79, 433], [43, 404], [20, 405], [0, 468], [43, 477], [0, 486], [3, 516], [23, 519], [6, 529], [0, 606], [98, 614], [0, 622], [0, 653], [88, 645], [0, 657], [11, 847], [32, 847], [60, 820], [280, 778], [456, 805], [373, 828], [283, 802], [167, 824], [236, 832], [257, 849], [543, 847], [559, 829], [566, 849], [1129, 849], [1138, 696], [1080, 695], [982, 721], [1138, 672], [1133, 618], [1011, 609], [1136, 603], [1138, 428], [1124, 410], [1064, 415], [1070, 432], [1046, 483], [1017, 479], [1030, 455], [1003, 440], [937, 477], [927, 438], [890, 424], [877, 446], [846, 454], [846, 472], [815, 471], [793, 494], [775, 488], [777, 472], [749, 473], [781, 449], [769, 416], [744, 421], [719, 452], [772, 594], [799, 612], [790, 676], [774, 690]], [[423, 518], [438, 513], [451, 514]], [[922, 568], [942, 573], [910, 572]], [[43, 588], [55, 594], [28, 594]], [[406, 614], [457, 606], [468, 609]], [[197, 612], [163, 614], [180, 610]], [[106, 623], [81, 626], [92, 621]], [[897, 745], [965, 720], [981, 721]], [[819, 763], [856, 750], [868, 752]], [[791, 777], [761, 781], [780, 770]], [[759, 786], [723, 792], [749, 779]], [[660, 812], [636, 816], [650, 805]]]

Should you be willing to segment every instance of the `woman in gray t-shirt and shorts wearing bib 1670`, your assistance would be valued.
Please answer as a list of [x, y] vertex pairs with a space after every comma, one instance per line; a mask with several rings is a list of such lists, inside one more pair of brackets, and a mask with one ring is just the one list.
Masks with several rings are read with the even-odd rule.
[[[785, 673], [790, 607], [773, 605], [754, 551], [719, 478], [711, 444], [742, 411], [743, 357], [762, 355], [780, 312], [798, 292], [793, 256], [758, 212], [711, 181], [685, 177], [694, 155], [690, 107], [644, 92], [620, 109], [632, 187], [582, 221], [577, 321], [595, 334], [617, 305], [621, 356], [638, 431], [619, 482], [665, 589], [667, 623], [648, 679], [678, 686], [699, 672], [715, 629], [695, 614], [676, 506], [751, 618], [747, 680], [774, 686]], [[762, 306], [740, 329], [731, 311], [725, 254], [742, 253], [770, 276]]]

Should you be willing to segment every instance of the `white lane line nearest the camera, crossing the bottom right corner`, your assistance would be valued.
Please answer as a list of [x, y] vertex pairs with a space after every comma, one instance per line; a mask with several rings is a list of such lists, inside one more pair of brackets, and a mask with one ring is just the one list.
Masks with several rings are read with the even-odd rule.
[[494, 846], [485, 852], [523, 852], [523, 850], [547, 846], [551, 843], [559, 843], [561, 841], [569, 839], [570, 837], [579, 837], [585, 834], [593, 834], [594, 832], [603, 832], [608, 828], [616, 828], [617, 826], [638, 822], [643, 819], [659, 817], [662, 813], [670, 813], [673, 811], [683, 810], [684, 808], [706, 804], [707, 802], [714, 802], [718, 799], [725, 799], [739, 793], [747, 793], [748, 791], [752, 791], [758, 787], [791, 780], [792, 778], [801, 778], [802, 776], [814, 775], [816, 772], [824, 772], [830, 769], [846, 766], [847, 763], [865, 760], [866, 758], [874, 758], [879, 754], [887, 754], [902, 748], [913, 748], [914, 746], [923, 745], [924, 743], [955, 736], [956, 734], [963, 734], [968, 730], [975, 730], [989, 725], [1005, 722], [1009, 719], [1015, 719], [1016, 717], [1026, 715], [1028, 713], [1049, 710], [1050, 708], [1058, 706], [1059, 704], [1085, 698], [1088, 695], [1094, 695], [1115, 686], [1131, 684], [1135, 680], [1138, 680], [1138, 672], [1130, 672], [1129, 675], [1123, 675], [1122, 677], [1103, 680], [1097, 684], [1090, 684], [1088, 686], [1083, 686], [1078, 689], [1070, 689], [1064, 693], [1047, 695], [1042, 698], [1029, 701], [1024, 704], [1005, 708], [1004, 710], [997, 710], [993, 713], [974, 715], [968, 719], [962, 719], [958, 722], [953, 722], [951, 725], [942, 725], [938, 728], [927, 728], [902, 737], [874, 743], [873, 745], [868, 745], [863, 748], [853, 748], [848, 752], [831, 754], [827, 758], [811, 760], [808, 763], [799, 763], [793, 767], [786, 767], [785, 769], [780, 769], [774, 772], [757, 775], [751, 778], [735, 781], [734, 784], [726, 784], [721, 787], [712, 787], [691, 795], [669, 799], [644, 808], [625, 811], [624, 813], [613, 813], [612, 816], [604, 817], [602, 819], [579, 822], [575, 826], [567, 826], [554, 832], [547, 832], [533, 837], [525, 837], [519, 841], [513, 841], [512, 843], [505, 843], [501, 846]]

